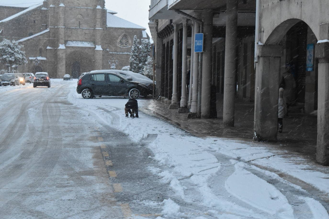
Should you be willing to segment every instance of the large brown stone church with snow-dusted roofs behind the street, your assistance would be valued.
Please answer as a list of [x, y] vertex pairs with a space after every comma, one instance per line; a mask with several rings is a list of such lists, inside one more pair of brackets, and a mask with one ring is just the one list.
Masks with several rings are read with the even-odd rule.
[[[129, 65], [134, 35], [146, 29], [115, 16], [104, 0], [45, 0], [29, 8], [0, 6], [0, 41], [18, 40], [28, 63], [23, 72], [50, 77]], [[1, 66], [0, 69], [5, 69]]]

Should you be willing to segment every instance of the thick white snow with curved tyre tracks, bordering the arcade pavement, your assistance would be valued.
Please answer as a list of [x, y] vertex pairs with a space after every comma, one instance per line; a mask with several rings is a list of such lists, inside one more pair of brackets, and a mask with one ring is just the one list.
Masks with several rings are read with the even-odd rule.
[[[163, 218], [329, 217], [324, 201], [329, 174], [316, 164], [259, 143], [197, 138], [141, 111], [139, 118], [125, 118], [127, 98], [83, 99], [76, 93], [76, 80], [69, 86], [68, 101], [86, 119], [111, 125], [152, 150], [149, 158], [159, 166], [150, 166], [149, 171], [171, 189], [168, 199], [151, 203], [163, 207]], [[148, 101], [139, 99], [139, 108], [146, 108]], [[321, 198], [266, 168], [313, 186], [322, 192]], [[204, 214], [197, 215], [193, 208]]]

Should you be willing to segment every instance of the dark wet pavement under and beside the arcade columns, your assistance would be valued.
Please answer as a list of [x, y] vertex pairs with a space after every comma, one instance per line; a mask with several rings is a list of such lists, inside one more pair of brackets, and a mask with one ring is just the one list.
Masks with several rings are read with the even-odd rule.
[[[177, 109], [168, 109], [160, 100], [150, 100], [143, 112], [152, 112], [158, 117], [190, 132], [198, 137], [222, 137], [243, 141], [253, 141], [254, 103], [235, 103], [235, 127], [222, 125], [222, 103], [217, 102], [216, 119], [188, 119], [187, 113], [177, 113]], [[278, 133], [278, 142], [261, 142], [269, 147], [282, 148], [291, 153], [302, 154], [315, 161], [317, 118], [301, 112], [291, 112], [283, 119], [283, 132]]]

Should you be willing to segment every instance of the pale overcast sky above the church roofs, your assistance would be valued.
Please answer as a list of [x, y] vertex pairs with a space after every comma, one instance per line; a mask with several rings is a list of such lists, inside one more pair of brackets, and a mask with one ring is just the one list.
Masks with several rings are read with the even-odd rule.
[[[41, 2], [38, 0], [0, 0], [0, 5], [29, 7]], [[150, 0], [105, 0], [105, 7], [118, 12], [116, 16], [145, 27], [151, 37], [147, 24], [150, 2]]]

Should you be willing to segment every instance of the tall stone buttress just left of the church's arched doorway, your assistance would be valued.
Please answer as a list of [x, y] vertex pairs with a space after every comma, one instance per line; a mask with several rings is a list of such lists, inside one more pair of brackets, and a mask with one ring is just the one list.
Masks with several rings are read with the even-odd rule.
[[62, 78], [65, 73], [65, 5], [58, 6], [58, 43], [57, 49], [57, 77]]

